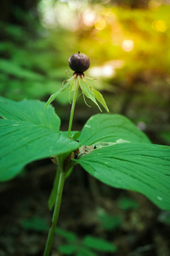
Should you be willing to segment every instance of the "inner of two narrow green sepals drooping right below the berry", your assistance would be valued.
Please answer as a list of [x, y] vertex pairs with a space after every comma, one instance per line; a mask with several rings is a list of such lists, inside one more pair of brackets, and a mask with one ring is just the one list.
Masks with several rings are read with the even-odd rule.
[[[93, 101], [99, 108], [98, 102], [96, 102], [94, 91], [91, 90], [90, 86], [88, 85], [87, 81], [85, 79], [82, 80], [82, 78], [78, 77], [78, 81], [80, 84], [80, 87], [82, 89], [82, 93], [87, 96], [88, 99]], [[101, 108], [99, 110], [102, 112]]]

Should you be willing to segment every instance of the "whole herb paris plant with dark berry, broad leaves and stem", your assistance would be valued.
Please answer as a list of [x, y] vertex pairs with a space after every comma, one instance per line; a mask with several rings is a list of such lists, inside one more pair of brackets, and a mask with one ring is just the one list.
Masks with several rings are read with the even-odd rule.
[[[103, 183], [137, 191], [158, 207], [170, 209], [170, 147], [151, 144], [142, 131], [119, 114], [96, 114], [88, 119], [81, 133], [71, 132], [79, 86], [82, 95], [94, 103], [97, 100], [108, 111], [103, 96], [88, 83], [83, 73], [85, 67], [81, 65], [85, 60], [87, 68], [88, 58], [80, 53], [73, 56], [70, 66], [76, 69], [75, 73], [46, 104], [27, 100], [13, 102], [0, 97], [3, 118], [0, 119], [0, 181], [15, 177], [33, 160], [54, 155], [58, 163], [49, 200], [50, 208], [54, 203], [55, 206], [45, 256], [51, 251], [65, 177], [77, 164]], [[75, 59], [79, 64], [72, 64]], [[67, 134], [59, 131], [60, 119], [54, 108], [48, 106], [66, 88], [74, 93]]]

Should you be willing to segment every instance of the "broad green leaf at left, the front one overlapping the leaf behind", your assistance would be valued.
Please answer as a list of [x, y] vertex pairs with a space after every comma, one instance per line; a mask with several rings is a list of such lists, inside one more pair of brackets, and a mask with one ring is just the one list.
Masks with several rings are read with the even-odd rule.
[[33, 160], [66, 154], [76, 149], [77, 142], [62, 132], [48, 130], [42, 125], [0, 119], [0, 180], [16, 176]]

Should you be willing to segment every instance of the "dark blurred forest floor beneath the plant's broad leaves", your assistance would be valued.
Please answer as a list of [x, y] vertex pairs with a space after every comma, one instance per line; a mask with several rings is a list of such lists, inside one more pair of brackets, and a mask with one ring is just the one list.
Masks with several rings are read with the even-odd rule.
[[[20, 177], [1, 183], [0, 256], [43, 255], [48, 230], [38, 219], [48, 226], [51, 222], [48, 197], [54, 175], [54, 164], [41, 160], [26, 166]], [[95, 255], [169, 256], [170, 225], [162, 223], [164, 213], [143, 195], [112, 189], [77, 166], [65, 182], [58, 226], [76, 234], [78, 241], [95, 236], [117, 247], [115, 253], [97, 250]], [[32, 219], [37, 225], [26, 225]], [[58, 249], [65, 242], [55, 235], [51, 256], [66, 255]]]

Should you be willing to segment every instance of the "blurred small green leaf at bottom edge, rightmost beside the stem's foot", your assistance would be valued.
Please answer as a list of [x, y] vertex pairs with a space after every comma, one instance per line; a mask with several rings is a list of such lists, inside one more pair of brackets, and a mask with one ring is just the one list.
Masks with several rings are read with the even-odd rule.
[[87, 247], [90, 247], [102, 252], [108, 252], [108, 253], [116, 252], [116, 246], [113, 243], [109, 241], [105, 241], [104, 239], [101, 239], [101, 238], [94, 237], [94, 236], [85, 236], [82, 243]]

